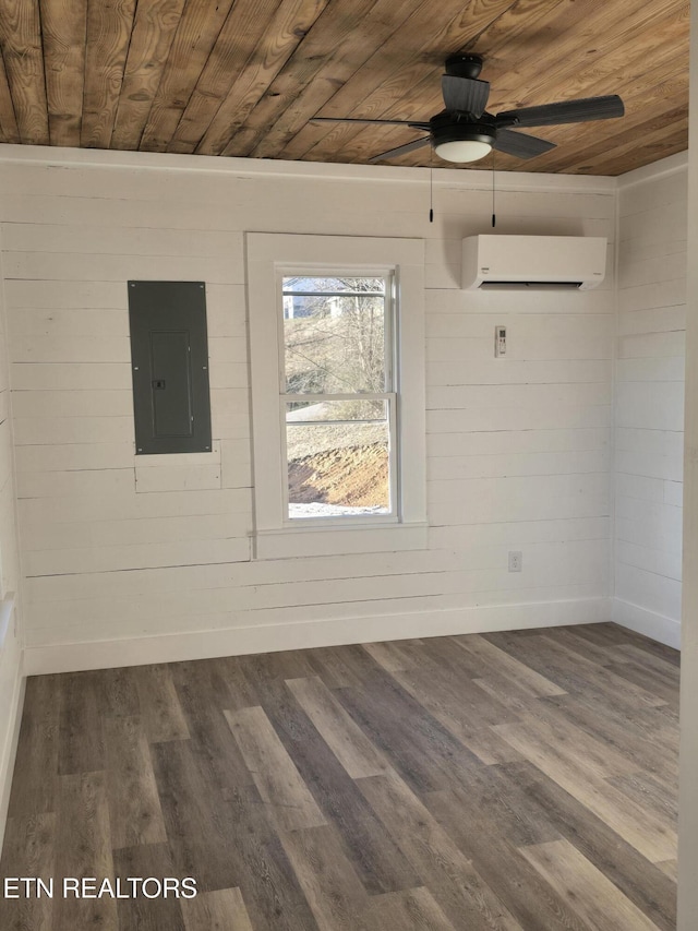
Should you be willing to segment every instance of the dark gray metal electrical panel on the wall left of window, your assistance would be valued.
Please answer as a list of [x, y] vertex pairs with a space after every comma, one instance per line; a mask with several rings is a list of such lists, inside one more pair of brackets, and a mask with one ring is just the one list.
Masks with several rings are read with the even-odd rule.
[[135, 450], [210, 452], [203, 282], [129, 282]]

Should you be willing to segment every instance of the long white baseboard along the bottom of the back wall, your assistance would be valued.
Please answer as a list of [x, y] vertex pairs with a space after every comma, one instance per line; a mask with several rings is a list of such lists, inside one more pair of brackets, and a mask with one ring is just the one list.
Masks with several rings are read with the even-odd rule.
[[610, 620], [609, 598], [342, 618], [308, 623], [160, 634], [130, 640], [28, 646], [24, 652], [24, 670], [27, 676], [39, 676], [84, 669], [109, 669], [117, 666], [142, 666], [149, 663], [176, 663], [182, 659], [207, 659], [214, 656], [273, 653], [280, 649], [588, 624]]

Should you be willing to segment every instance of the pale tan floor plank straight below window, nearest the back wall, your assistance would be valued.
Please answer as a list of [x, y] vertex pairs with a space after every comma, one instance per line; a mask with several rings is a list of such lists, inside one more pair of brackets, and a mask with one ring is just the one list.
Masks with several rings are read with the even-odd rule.
[[352, 778], [390, 772], [385, 757], [320, 679], [287, 679], [286, 684]]

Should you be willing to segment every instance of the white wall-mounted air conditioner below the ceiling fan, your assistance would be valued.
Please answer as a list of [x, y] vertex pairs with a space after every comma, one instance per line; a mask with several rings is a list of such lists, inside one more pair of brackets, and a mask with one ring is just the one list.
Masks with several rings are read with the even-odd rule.
[[603, 236], [469, 236], [462, 287], [595, 288], [606, 267]]

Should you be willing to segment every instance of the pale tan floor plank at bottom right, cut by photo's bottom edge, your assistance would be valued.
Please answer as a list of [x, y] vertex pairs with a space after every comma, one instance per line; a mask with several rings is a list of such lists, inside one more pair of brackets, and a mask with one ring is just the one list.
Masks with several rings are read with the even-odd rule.
[[657, 924], [566, 840], [524, 847], [521, 854], [589, 927], [657, 931]]

